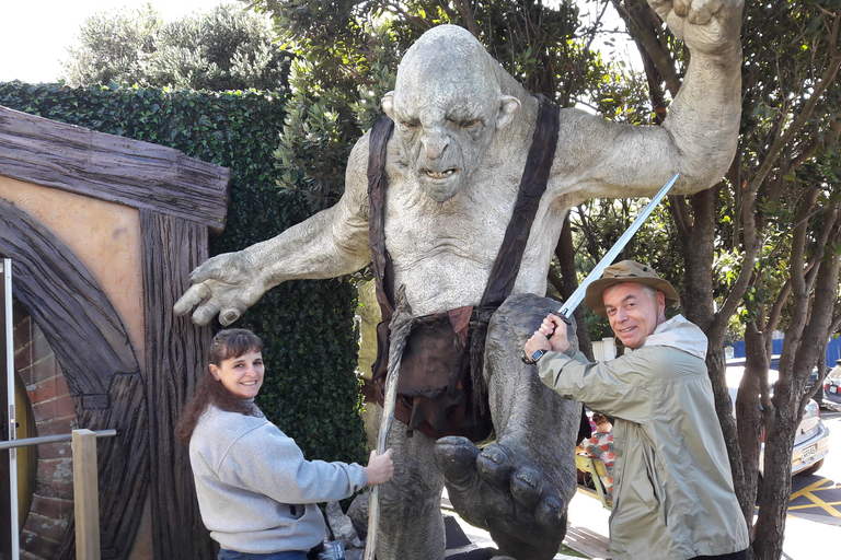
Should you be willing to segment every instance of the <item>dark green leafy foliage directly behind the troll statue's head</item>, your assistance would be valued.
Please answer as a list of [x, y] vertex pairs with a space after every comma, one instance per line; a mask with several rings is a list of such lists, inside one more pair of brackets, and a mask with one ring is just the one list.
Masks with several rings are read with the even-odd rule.
[[[272, 15], [285, 47], [295, 52], [290, 85], [295, 107], [275, 156], [278, 184], [307, 191], [313, 209], [344, 189], [344, 162], [353, 143], [381, 114], [403, 52], [428, 28], [451, 23], [471, 31], [530, 91], [572, 106], [597, 97], [604, 63], [581, 32], [575, 3], [437, 2], [379, 0], [250, 0]], [[591, 31], [588, 31], [588, 33]], [[301, 182], [300, 179], [303, 178]]]

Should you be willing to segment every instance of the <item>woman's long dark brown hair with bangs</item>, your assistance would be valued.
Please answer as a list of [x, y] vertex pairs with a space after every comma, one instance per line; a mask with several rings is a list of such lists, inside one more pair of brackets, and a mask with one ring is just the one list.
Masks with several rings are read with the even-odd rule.
[[175, 425], [175, 436], [184, 443], [189, 443], [196, 429], [198, 419], [210, 405], [216, 405], [229, 412], [239, 412], [245, 416], [254, 416], [256, 407], [251, 399], [241, 399], [232, 395], [222, 382], [210, 373], [210, 364], [219, 368], [229, 358], [239, 358], [249, 352], [263, 351], [263, 341], [251, 330], [244, 328], [229, 328], [220, 330], [210, 343], [207, 351], [207, 366], [198, 381], [196, 394], [187, 404], [181, 420]]

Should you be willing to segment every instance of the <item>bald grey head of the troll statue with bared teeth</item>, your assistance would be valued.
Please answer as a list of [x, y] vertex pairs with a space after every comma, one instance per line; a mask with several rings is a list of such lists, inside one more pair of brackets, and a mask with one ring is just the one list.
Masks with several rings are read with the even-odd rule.
[[469, 184], [496, 131], [520, 108], [503, 95], [496, 65], [468, 31], [441, 25], [406, 51], [394, 91], [382, 100], [420, 187], [438, 202]]

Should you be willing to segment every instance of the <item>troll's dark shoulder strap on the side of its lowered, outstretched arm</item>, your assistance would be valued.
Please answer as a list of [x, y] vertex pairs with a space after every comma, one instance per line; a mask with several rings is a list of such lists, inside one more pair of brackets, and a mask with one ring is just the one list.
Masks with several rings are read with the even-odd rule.
[[394, 130], [394, 121], [380, 117], [368, 133], [368, 235], [371, 244], [371, 264], [377, 284], [377, 301], [382, 320], [391, 320], [394, 311], [394, 269], [385, 250], [385, 152]]

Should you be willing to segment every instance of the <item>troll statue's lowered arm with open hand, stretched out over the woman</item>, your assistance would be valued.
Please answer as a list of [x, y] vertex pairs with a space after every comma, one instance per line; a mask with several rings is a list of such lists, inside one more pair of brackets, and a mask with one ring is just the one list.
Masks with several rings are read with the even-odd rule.
[[219, 322], [230, 325], [281, 282], [333, 278], [370, 262], [366, 167], [360, 166], [367, 151], [366, 137], [350, 154], [345, 194], [335, 206], [274, 238], [203, 262], [189, 275], [193, 285], [175, 302], [174, 313], [193, 312], [197, 325], [219, 314]]

